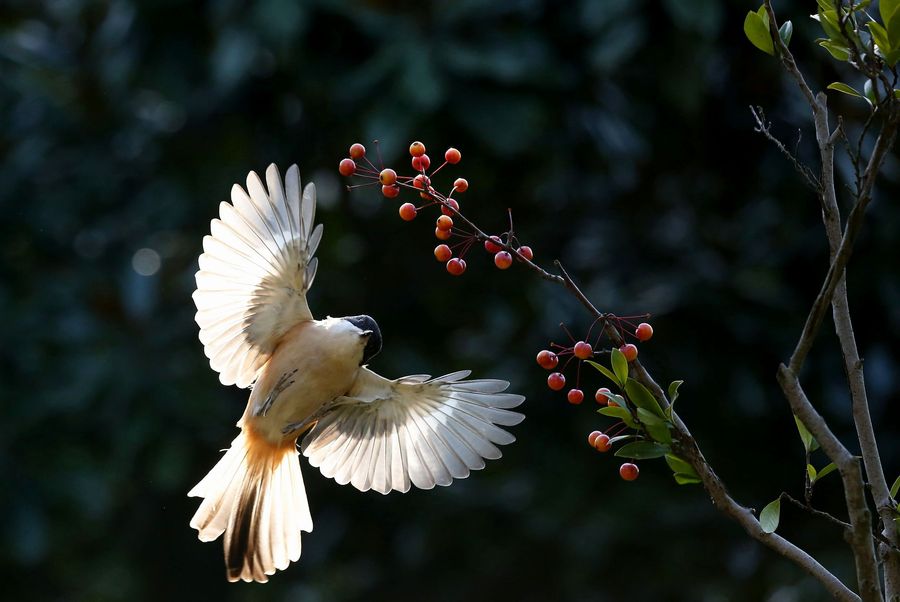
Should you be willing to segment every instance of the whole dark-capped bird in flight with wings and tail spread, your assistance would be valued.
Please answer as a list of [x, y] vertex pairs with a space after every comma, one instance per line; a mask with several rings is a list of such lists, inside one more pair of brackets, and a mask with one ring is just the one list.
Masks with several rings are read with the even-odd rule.
[[[203, 238], [192, 297], [210, 367], [223, 385], [249, 388], [230, 447], [188, 496], [201, 541], [224, 534], [228, 581], [265, 583], [300, 559], [313, 528], [300, 470], [309, 464], [360, 491], [407, 492], [462, 479], [515, 441], [501, 427], [524, 415], [509, 383], [468, 370], [387, 379], [368, 367], [382, 347], [368, 315], [315, 319], [307, 302], [322, 224], [316, 189], [292, 165], [272, 164]], [[302, 442], [298, 450], [298, 441]]]

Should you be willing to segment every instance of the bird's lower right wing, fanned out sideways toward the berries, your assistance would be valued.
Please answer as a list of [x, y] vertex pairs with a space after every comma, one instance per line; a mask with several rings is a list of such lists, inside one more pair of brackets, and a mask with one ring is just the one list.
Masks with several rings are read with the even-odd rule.
[[449, 485], [501, 456], [515, 437], [496, 425], [525, 417], [510, 412], [521, 395], [503, 380], [463, 380], [454, 372], [429, 380], [388, 380], [361, 368], [353, 388], [303, 440], [303, 454], [326, 477], [360, 491], [408, 491]]

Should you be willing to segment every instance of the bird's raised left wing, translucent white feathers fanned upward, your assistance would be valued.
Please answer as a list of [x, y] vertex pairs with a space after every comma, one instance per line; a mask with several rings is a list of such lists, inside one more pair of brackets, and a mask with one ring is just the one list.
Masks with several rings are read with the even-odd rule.
[[281, 336], [312, 319], [306, 291], [322, 238], [322, 225], [313, 228], [315, 186], [307, 184], [301, 198], [297, 166], [282, 184], [274, 164], [266, 185], [252, 171], [246, 191], [235, 184], [203, 238], [196, 320], [209, 365], [226, 385], [248, 387]]

